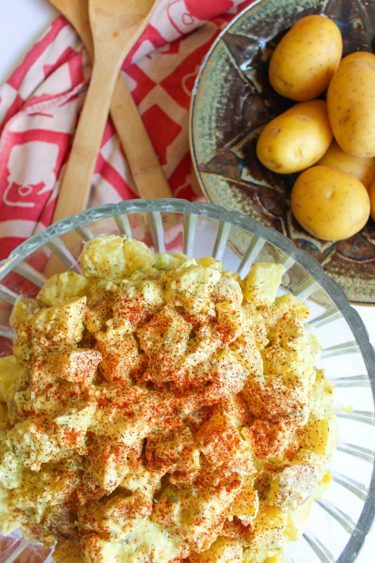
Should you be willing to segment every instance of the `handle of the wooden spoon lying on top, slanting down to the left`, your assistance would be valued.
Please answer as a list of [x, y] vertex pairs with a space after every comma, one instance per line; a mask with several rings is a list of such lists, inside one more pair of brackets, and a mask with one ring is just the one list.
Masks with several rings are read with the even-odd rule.
[[91, 81], [75, 131], [73, 146], [60, 185], [52, 222], [76, 215], [87, 207], [92, 177], [106, 126], [112, 91], [120, 72], [105, 57], [93, 67]]

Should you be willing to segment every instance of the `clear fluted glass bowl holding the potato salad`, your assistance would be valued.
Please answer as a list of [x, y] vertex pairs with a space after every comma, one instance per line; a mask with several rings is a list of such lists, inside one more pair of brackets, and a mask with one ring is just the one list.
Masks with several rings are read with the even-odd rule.
[[[84, 242], [109, 233], [143, 240], [155, 252], [213, 256], [241, 276], [254, 261], [286, 267], [281, 292], [295, 294], [310, 307], [309, 325], [323, 347], [318, 367], [326, 369], [336, 386], [340, 431], [337, 453], [329, 463], [332, 486], [323, 500], [313, 503], [308, 529], [290, 543], [287, 558], [297, 563], [354, 561], [375, 514], [375, 352], [342, 289], [277, 231], [218, 205], [178, 199], [103, 205], [60, 221], [31, 236], [0, 263], [0, 353], [11, 353], [8, 319], [17, 297], [35, 296], [48, 268], [48, 274], [79, 271]], [[51, 561], [51, 549], [31, 546], [17, 531], [0, 538], [0, 553], [0, 563]]]

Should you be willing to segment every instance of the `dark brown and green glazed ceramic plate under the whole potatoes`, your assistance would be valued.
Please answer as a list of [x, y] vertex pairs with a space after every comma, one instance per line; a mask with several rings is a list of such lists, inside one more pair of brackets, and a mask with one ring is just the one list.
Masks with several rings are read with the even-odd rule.
[[372, 305], [375, 222], [369, 220], [360, 233], [341, 242], [314, 238], [291, 213], [289, 196], [296, 175], [270, 172], [255, 154], [264, 124], [296, 103], [270, 87], [270, 56], [295, 21], [309, 14], [324, 14], [336, 22], [344, 55], [372, 51], [372, 0], [255, 2], [218, 37], [202, 64], [191, 104], [193, 162], [207, 200], [274, 227], [318, 260], [351, 302]]

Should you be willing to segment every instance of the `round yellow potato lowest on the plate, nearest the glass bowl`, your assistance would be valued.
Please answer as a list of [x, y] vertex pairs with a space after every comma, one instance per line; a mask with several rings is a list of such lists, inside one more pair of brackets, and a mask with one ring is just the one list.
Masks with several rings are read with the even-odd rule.
[[308, 233], [319, 239], [342, 240], [367, 223], [370, 200], [364, 185], [351, 174], [313, 166], [297, 178], [291, 207]]

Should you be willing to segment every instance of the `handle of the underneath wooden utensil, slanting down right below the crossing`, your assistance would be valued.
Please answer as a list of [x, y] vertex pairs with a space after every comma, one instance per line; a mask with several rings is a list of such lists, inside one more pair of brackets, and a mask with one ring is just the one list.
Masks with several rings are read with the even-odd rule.
[[139, 196], [146, 199], [173, 198], [137, 106], [121, 75], [112, 96], [111, 117]]

